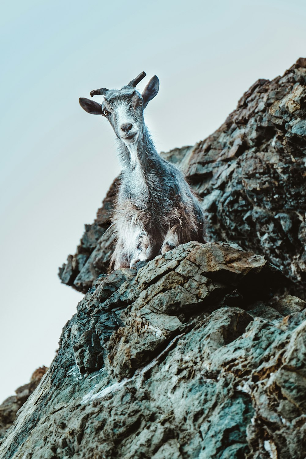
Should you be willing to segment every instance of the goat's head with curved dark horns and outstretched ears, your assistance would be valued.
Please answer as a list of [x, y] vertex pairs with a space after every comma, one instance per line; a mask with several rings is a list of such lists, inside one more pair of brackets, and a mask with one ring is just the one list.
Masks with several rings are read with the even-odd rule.
[[158, 93], [159, 80], [156, 75], [150, 79], [142, 94], [135, 86], [145, 78], [145, 72], [130, 81], [121, 90], [101, 88], [90, 92], [103, 95], [102, 104], [80, 97], [80, 106], [88, 113], [102, 115], [108, 119], [117, 137], [126, 145], [136, 142], [144, 129], [144, 108]]

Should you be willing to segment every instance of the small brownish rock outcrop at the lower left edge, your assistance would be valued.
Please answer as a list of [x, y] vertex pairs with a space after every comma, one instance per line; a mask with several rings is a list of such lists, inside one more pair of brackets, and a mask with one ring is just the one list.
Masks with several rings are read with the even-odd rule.
[[16, 395], [6, 398], [0, 405], [0, 439], [4, 437], [6, 430], [13, 424], [18, 409], [28, 400], [34, 389], [39, 385], [41, 378], [45, 375], [47, 367], [42, 366], [36, 369], [28, 384], [18, 387]]

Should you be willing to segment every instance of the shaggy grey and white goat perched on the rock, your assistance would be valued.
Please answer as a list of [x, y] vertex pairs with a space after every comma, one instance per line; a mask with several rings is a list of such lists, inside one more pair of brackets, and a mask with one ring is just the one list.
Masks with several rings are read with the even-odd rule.
[[79, 99], [86, 112], [108, 119], [119, 140], [122, 175], [112, 218], [114, 269], [132, 268], [185, 242], [205, 242], [200, 202], [179, 168], [157, 153], [145, 124], [144, 109], [159, 89], [155, 75], [140, 95], [135, 87], [145, 75], [140, 73], [121, 90], [91, 91], [91, 97], [104, 96], [102, 104]]

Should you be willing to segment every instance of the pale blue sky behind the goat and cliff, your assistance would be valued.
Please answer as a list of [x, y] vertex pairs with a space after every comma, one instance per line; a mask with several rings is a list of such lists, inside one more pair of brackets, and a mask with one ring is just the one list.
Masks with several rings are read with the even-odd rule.
[[223, 123], [257, 78], [306, 56], [304, 1], [6, 1], [1, 33], [0, 401], [54, 357], [82, 295], [57, 268], [113, 177], [116, 142], [78, 97], [141, 71], [159, 151]]

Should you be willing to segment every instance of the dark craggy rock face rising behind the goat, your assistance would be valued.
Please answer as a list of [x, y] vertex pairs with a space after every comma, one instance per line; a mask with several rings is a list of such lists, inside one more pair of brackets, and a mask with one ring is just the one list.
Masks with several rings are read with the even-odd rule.
[[[290, 292], [306, 298], [306, 59], [282, 77], [256, 81], [206, 140], [162, 154], [186, 171], [202, 198], [207, 239], [265, 255]], [[108, 269], [115, 182], [60, 269], [61, 281], [84, 293]]]

